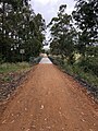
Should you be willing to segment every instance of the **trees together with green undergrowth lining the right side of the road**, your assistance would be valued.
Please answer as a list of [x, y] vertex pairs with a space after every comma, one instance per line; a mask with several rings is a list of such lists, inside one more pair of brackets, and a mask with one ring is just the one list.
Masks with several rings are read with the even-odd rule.
[[51, 32], [50, 59], [77, 78], [98, 97], [98, 1], [76, 0], [71, 15], [66, 4], [48, 24]]

